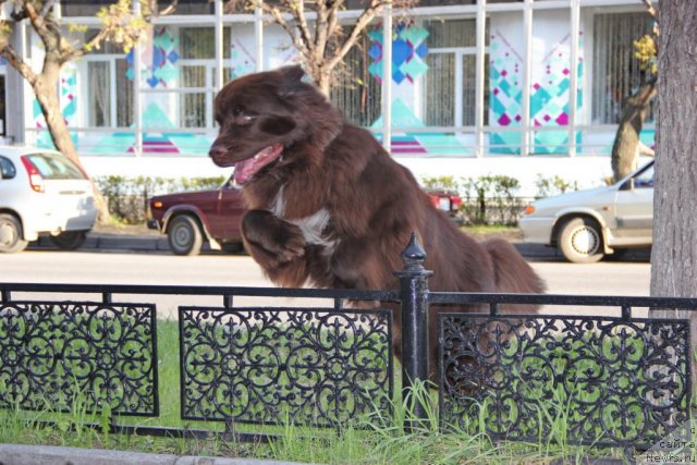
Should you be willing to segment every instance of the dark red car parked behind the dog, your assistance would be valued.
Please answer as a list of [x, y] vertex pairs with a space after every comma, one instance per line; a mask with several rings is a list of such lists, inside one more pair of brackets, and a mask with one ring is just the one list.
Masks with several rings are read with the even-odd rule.
[[[448, 211], [453, 219], [461, 198], [442, 191], [428, 192], [433, 207]], [[246, 209], [240, 187], [231, 178], [215, 191], [158, 195], [150, 199], [148, 228], [167, 233], [176, 255], [198, 255], [204, 242], [210, 248], [242, 250], [242, 217]]]

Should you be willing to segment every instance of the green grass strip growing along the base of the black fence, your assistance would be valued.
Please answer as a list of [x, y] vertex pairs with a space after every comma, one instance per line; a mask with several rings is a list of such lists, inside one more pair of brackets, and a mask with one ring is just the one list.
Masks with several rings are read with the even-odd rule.
[[[158, 418], [122, 417], [119, 424], [189, 427], [221, 430], [222, 424], [184, 421], [180, 418], [179, 327], [175, 321], [158, 321], [158, 377], [160, 416]], [[400, 370], [395, 367], [395, 374]], [[398, 377], [399, 379], [399, 377]], [[222, 439], [174, 440], [101, 433], [80, 425], [108, 425], [108, 412], [90, 414], [85, 402], [72, 400], [71, 414], [51, 412], [0, 411], [0, 442], [53, 444], [83, 448], [107, 448], [144, 452], [187, 455], [243, 456], [327, 464], [545, 464], [554, 460], [578, 463], [584, 456], [620, 456], [619, 451], [572, 446], [567, 426], [574, 412], [564, 395], [539, 402], [539, 421], [550, 427], [550, 433], [535, 443], [494, 442], [486, 433], [486, 408], [457, 426], [449, 426], [448, 433], [439, 429], [438, 399], [433, 390], [417, 386], [409, 397], [400, 400], [399, 381], [393, 416], [380, 408], [354, 418], [341, 429], [316, 429], [294, 426], [289, 419], [281, 426], [240, 426], [240, 431], [272, 432], [279, 436], [270, 444], [245, 444]], [[407, 408], [413, 401], [426, 407], [426, 420], [416, 421]], [[484, 407], [484, 405], [482, 405]], [[40, 425], [42, 419], [57, 423]], [[411, 420], [411, 431], [405, 421]], [[74, 429], [74, 430], [73, 430]]]

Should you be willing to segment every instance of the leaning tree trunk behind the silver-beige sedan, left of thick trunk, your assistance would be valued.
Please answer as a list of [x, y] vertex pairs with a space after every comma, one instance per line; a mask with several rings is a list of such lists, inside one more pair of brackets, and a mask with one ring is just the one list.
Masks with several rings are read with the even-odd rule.
[[652, 79], [624, 100], [620, 125], [612, 145], [611, 164], [615, 182], [637, 169], [641, 146], [639, 134], [646, 118], [646, 110], [655, 95], [656, 81]]

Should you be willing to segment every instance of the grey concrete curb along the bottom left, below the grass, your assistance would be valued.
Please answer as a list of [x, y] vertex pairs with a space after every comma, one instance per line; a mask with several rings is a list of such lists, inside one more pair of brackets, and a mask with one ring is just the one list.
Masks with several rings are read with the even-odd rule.
[[298, 465], [297, 462], [151, 454], [103, 449], [0, 444], [2, 465]]

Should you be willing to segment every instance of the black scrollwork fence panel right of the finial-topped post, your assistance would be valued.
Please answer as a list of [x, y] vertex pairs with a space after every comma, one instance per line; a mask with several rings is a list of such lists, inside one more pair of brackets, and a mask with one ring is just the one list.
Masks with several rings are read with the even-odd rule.
[[[687, 320], [475, 317], [440, 321], [441, 419], [492, 437], [651, 444], [688, 419]], [[482, 411], [481, 411], [482, 409]]]

